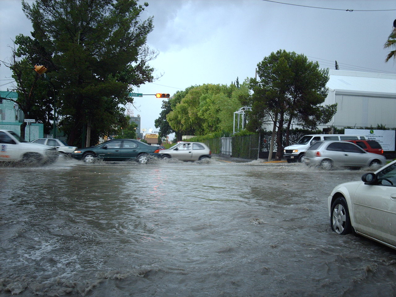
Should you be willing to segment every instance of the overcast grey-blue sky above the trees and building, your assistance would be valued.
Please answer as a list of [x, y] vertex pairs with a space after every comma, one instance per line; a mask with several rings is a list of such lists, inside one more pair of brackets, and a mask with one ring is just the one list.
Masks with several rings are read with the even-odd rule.
[[[31, 1], [29, 1], [31, 2]], [[139, 1], [143, 4], [144, 1]], [[192, 85], [242, 83], [255, 76], [257, 63], [272, 51], [303, 53], [322, 68], [395, 73], [385, 63], [383, 46], [396, 19], [395, 0], [147, 0], [142, 19], [154, 16], [148, 46], [159, 55], [153, 83], [136, 93], [170, 93]], [[300, 6], [296, 6], [300, 5]], [[314, 6], [310, 8], [303, 6]], [[353, 11], [346, 11], [353, 10]], [[392, 10], [392, 11], [359, 11]], [[0, 0], [0, 60], [9, 61], [12, 40], [30, 35], [31, 23], [20, 0]], [[0, 90], [12, 88], [10, 72], [0, 67]], [[162, 100], [144, 95], [130, 106], [141, 128], [157, 131]]]

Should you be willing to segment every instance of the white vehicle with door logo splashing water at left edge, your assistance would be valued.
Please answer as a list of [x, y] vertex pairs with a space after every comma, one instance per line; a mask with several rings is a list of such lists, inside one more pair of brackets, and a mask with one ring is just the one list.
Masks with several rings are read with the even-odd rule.
[[13, 131], [0, 130], [0, 161], [47, 164], [57, 158], [55, 148], [23, 141]]

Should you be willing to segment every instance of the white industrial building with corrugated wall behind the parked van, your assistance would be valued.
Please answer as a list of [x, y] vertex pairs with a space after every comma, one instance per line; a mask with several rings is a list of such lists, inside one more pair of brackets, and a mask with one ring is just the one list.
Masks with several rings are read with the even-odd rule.
[[329, 70], [329, 76], [324, 105], [337, 103], [337, 112], [318, 128], [396, 128], [396, 74]]

